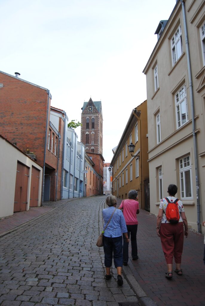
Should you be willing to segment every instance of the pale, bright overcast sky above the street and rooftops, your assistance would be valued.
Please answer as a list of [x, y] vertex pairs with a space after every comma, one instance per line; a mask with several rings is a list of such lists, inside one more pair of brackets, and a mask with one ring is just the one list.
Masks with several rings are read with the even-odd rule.
[[[81, 121], [102, 102], [103, 157], [121, 139], [132, 109], [147, 99], [142, 73], [155, 30], [176, 0], [0, 0], [0, 70], [44, 88], [51, 106]], [[80, 141], [80, 128], [76, 133]]]

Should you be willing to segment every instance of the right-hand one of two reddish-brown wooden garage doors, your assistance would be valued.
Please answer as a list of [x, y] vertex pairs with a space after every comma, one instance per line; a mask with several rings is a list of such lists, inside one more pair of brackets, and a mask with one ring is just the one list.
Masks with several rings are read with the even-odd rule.
[[30, 207], [37, 207], [39, 201], [39, 179], [40, 171], [32, 166]]

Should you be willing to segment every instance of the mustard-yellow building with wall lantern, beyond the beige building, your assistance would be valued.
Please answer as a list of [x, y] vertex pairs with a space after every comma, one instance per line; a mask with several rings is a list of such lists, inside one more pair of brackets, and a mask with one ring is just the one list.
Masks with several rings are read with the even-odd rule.
[[[134, 152], [129, 153], [129, 145]], [[149, 167], [147, 141], [147, 101], [130, 115], [118, 146], [113, 150], [113, 195], [127, 199], [131, 189], [138, 190], [140, 207], [149, 211]]]

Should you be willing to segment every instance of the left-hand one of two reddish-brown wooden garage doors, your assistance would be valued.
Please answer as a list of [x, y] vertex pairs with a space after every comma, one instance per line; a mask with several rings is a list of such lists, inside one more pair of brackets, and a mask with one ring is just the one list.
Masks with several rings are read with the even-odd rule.
[[17, 162], [13, 212], [26, 211], [28, 195], [28, 170], [29, 168], [27, 166]]

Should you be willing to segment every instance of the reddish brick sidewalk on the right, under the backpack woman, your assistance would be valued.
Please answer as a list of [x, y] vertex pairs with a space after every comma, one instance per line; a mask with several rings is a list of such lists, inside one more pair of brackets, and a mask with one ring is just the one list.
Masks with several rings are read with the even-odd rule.
[[[117, 204], [121, 203], [117, 199]], [[117, 205], [117, 207], [118, 207]], [[137, 230], [139, 259], [132, 260], [129, 245], [129, 267], [137, 282], [158, 306], [205, 305], [205, 266], [203, 263], [204, 235], [189, 230], [182, 254], [183, 275], [173, 272], [172, 280], [165, 278], [166, 261], [160, 238], [156, 234], [156, 217], [140, 210]], [[173, 264], [173, 269], [175, 265]]]

